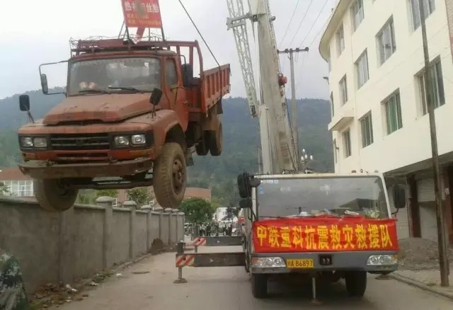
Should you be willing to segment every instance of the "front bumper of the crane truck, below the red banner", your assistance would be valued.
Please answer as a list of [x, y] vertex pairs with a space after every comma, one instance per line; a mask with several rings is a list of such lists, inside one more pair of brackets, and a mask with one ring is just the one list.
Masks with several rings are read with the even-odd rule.
[[[319, 272], [333, 270], [362, 270], [375, 273], [389, 273], [398, 269], [395, 265], [367, 265], [369, 256], [397, 255], [396, 251], [357, 251], [357, 252], [322, 252], [322, 253], [252, 253], [253, 258], [278, 257], [287, 264], [289, 259], [313, 260], [313, 268], [262, 268], [253, 267], [253, 273], [290, 273], [290, 272]], [[330, 265], [326, 265], [326, 258], [330, 258]], [[324, 264], [322, 263], [324, 261]]]

